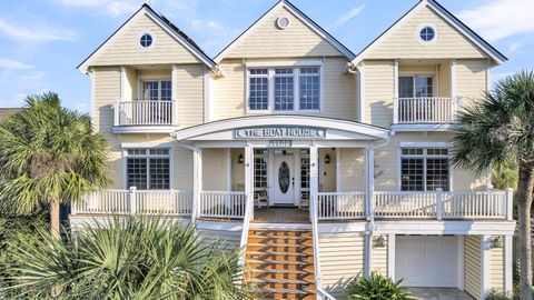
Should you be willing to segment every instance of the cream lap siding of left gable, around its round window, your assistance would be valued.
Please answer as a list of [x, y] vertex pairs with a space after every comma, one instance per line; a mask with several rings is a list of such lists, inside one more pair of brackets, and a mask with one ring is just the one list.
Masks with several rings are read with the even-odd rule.
[[[150, 49], [138, 46], [139, 38], [146, 32], [154, 38]], [[146, 64], [147, 62], [150, 64], [195, 63], [200, 60], [148, 16], [141, 14], [108, 41], [91, 66]]]

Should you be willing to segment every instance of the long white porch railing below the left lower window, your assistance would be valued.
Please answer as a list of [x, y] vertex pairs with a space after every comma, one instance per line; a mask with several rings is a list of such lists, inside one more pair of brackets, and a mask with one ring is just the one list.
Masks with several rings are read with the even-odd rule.
[[190, 216], [192, 192], [181, 190], [101, 190], [72, 204], [72, 214]]

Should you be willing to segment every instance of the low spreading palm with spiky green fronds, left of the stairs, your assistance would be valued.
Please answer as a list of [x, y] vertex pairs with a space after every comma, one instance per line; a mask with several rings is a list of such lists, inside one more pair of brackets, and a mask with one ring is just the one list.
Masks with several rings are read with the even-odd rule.
[[95, 222], [76, 239], [44, 230], [13, 253], [10, 289], [21, 299], [248, 299], [235, 284], [239, 251], [195, 231], [141, 217]]

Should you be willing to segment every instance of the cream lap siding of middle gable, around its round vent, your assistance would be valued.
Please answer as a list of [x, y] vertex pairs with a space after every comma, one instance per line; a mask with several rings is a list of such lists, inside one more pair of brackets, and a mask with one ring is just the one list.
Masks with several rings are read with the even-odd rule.
[[[287, 17], [288, 28], [276, 26], [279, 17]], [[286, 8], [271, 11], [234, 44], [225, 58], [293, 58], [293, 57], [337, 57], [342, 53], [297, 19]]]

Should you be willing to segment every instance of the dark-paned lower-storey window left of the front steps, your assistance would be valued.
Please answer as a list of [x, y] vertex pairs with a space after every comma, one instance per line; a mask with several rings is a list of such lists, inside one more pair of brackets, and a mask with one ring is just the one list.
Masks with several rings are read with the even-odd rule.
[[168, 148], [126, 149], [127, 188], [170, 189], [170, 151]]

